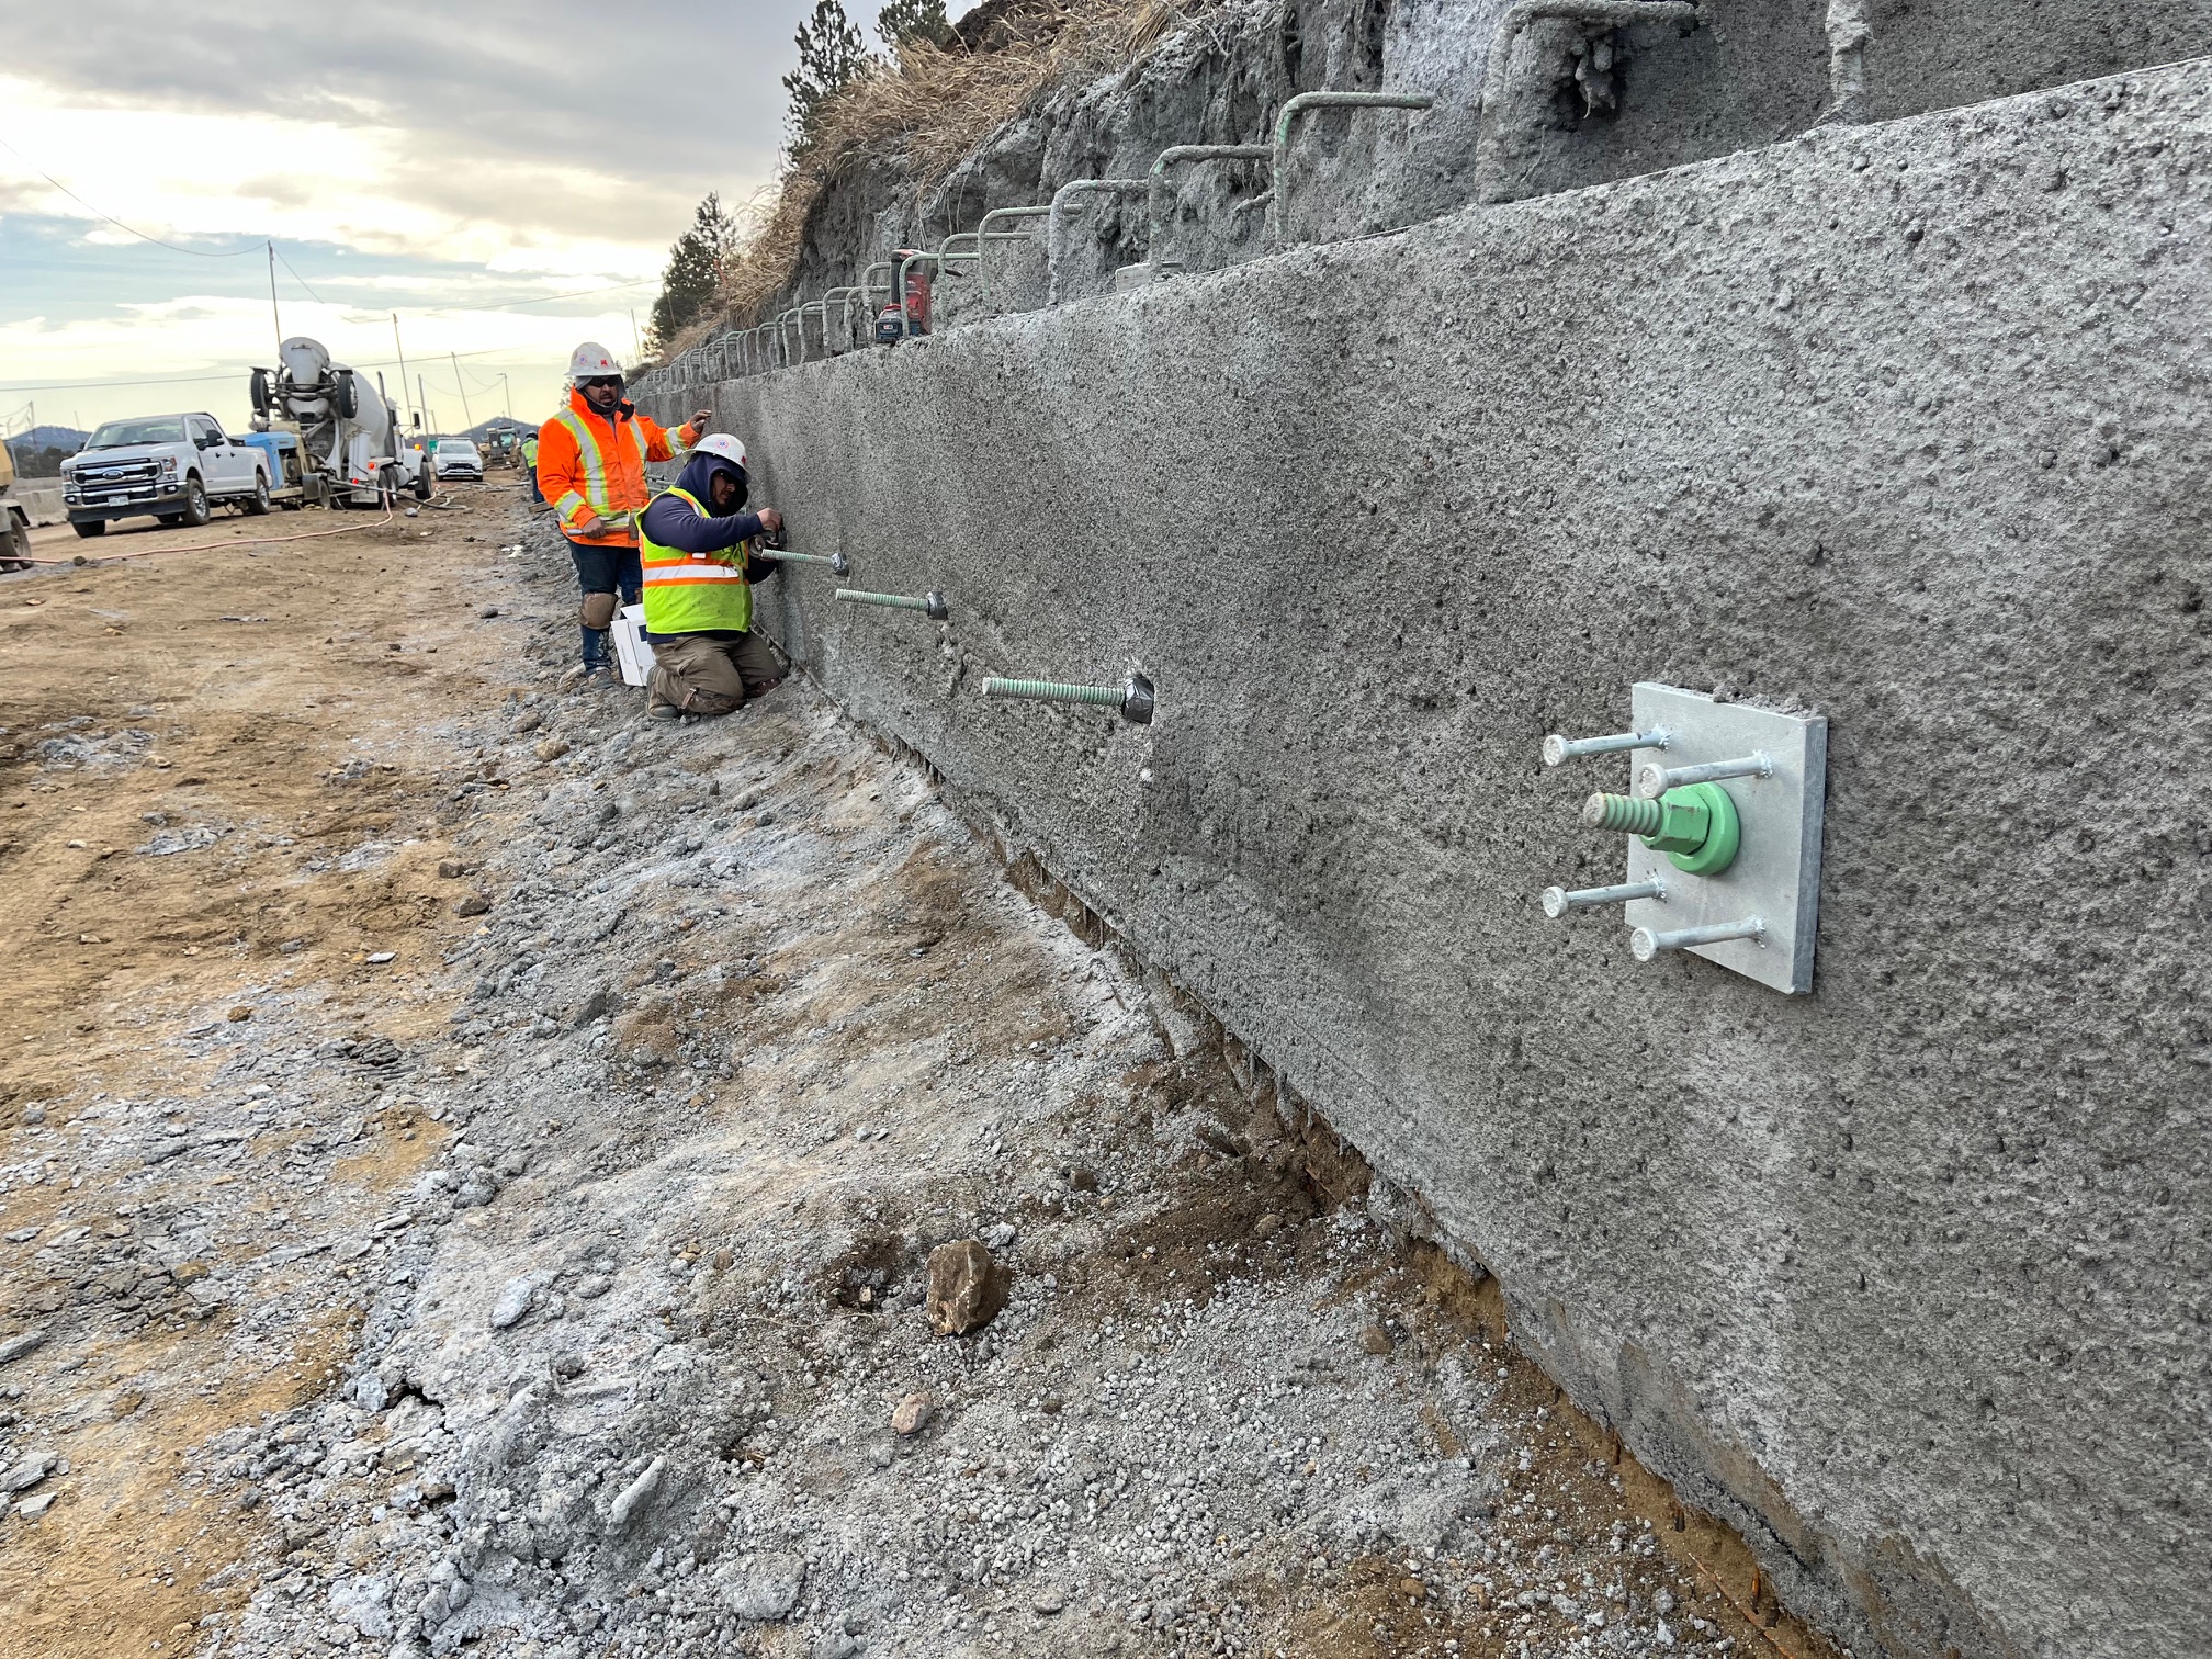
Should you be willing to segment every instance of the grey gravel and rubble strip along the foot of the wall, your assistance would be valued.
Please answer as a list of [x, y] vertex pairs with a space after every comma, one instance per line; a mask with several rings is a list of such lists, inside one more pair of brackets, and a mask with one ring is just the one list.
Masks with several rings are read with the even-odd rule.
[[[153, 1329], [292, 1385], [177, 1449], [263, 1537], [210, 1657], [1765, 1650], [1495, 1287], [1157, 975], [803, 681], [551, 690], [518, 535], [526, 664], [418, 734], [469, 920], [418, 1018], [389, 951], [378, 1018], [279, 956], [177, 1044], [206, 1088], [11, 1133], [0, 1248], [64, 1290], [0, 1332], [0, 1528], [71, 1484], [40, 1391]], [[113, 1219], [15, 1225], [86, 1175]]]

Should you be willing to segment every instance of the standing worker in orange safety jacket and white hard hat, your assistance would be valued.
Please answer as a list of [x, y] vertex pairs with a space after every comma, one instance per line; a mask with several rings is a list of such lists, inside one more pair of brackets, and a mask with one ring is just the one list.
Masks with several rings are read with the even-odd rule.
[[538, 487], [553, 502], [584, 591], [584, 659], [562, 684], [606, 672], [615, 608], [637, 604], [637, 515], [653, 498], [648, 460], [675, 460], [706, 431], [701, 409], [668, 431], [622, 398], [622, 365], [586, 341], [568, 356], [568, 400], [538, 429]]

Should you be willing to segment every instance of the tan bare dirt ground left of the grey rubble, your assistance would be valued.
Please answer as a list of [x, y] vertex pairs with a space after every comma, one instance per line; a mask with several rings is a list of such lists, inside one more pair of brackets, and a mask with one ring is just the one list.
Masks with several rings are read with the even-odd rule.
[[[179, 1053], [181, 1033], [223, 1020], [274, 975], [327, 987], [334, 1022], [409, 1031], [442, 1018], [427, 973], [363, 967], [396, 940], [458, 931], [438, 896], [440, 843], [411, 838], [361, 874], [312, 865], [394, 832], [420, 783], [411, 765], [436, 763], [416, 723], [498, 692], [495, 624], [467, 604], [469, 571], [456, 568], [462, 551], [484, 555], [462, 538], [495, 533], [504, 502], [493, 500], [358, 526], [325, 513], [217, 518], [95, 542], [53, 526], [35, 535], [38, 557], [102, 562], [0, 580], [0, 1135], [13, 1157], [29, 1150], [24, 1108], [86, 1084], [201, 1093], [206, 1066]], [[345, 533], [166, 553], [334, 526]], [[119, 553], [135, 557], [106, 562]], [[71, 741], [82, 759], [40, 763], [40, 743]], [[332, 790], [332, 770], [387, 750], [356, 787]], [[150, 814], [250, 827], [250, 845], [210, 880], [199, 858], [133, 856], [159, 832]], [[398, 1133], [409, 1130], [347, 1170], [358, 1203], [378, 1203], [429, 1155], [431, 1135]], [[95, 1232], [131, 1232], [100, 1177], [15, 1170], [0, 1228], [51, 1225], [66, 1206]], [[9, 1327], [60, 1314], [71, 1296], [22, 1254], [0, 1256]], [[38, 1526], [0, 1531], [0, 1628], [27, 1641], [18, 1652], [175, 1650], [206, 1610], [206, 1575], [265, 1548], [250, 1522], [184, 1491], [175, 1464], [223, 1427], [319, 1394], [349, 1352], [354, 1314], [327, 1310], [299, 1329], [299, 1358], [281, 1371], [226, 1349], [232, 1316], [111, 1334], [69, 1374], [71, 1398], [35, 1402], [71, 1425], [62, 1444], [86, 1473]], [[24, 1385], [31, 1365], [0, 1383]]]

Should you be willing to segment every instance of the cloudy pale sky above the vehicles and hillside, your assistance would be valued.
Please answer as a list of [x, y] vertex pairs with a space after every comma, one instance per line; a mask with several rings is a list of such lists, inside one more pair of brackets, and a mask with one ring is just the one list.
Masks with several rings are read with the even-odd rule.
[[772, 181], [807, 11], [0, 0], [0, 420], [243, 427], [265, 241], [285, 334], [396, 389], [398, 312], [438, 425], [540, 418], [577, 341], [633, 354], [699, 197]]

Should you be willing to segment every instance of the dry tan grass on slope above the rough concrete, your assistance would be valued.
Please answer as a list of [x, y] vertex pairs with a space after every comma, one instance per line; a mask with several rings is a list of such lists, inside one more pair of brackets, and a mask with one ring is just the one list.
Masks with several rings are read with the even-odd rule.
[[783, 175], [768, 221], [723, 283], [723, 316], [675, 341], [684, 349], [732, 323], [759, 323], [799, 270], [823, 192], [869, 161], [896, 159], [929, 188], [993, 131], [1064, 82], [1124, 69], [1214, 0], [1011, 0], [978, 7], [945, 49], [911, 46], [821, 106], [814, 144]]

